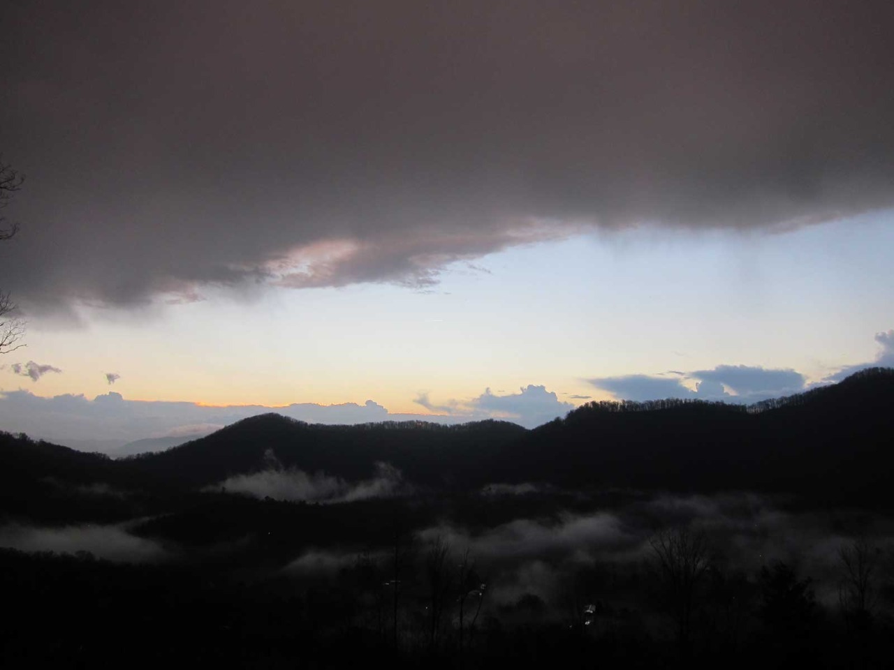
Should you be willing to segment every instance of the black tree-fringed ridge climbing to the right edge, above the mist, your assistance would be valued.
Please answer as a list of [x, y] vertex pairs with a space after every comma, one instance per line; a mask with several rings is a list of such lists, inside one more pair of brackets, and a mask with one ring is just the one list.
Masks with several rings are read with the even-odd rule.
[[678, 400], [595, 403], [495, 449], [486, 469], [502, 468], [500, 481], [576, 489], [789, 491], [890, 507], [892, 405], [890, 369], [857, 373], [760, 411]]

